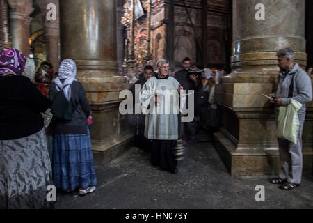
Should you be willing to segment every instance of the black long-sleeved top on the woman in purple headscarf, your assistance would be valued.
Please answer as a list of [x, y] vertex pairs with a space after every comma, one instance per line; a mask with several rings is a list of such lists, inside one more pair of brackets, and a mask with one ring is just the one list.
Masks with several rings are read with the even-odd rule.
[[28, 137], [44, 127], [49, 100], [28, 77], [0, 77], [0, 140]]

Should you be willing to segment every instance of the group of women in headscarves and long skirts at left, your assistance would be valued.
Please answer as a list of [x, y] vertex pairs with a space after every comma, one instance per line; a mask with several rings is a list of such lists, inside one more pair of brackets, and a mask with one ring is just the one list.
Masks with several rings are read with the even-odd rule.
[[[65, 59], [53, 74], [48, 62], [35, 72], [17, 49], [0, 53], [0, 208], [50, 208], [48, 185], [81, 196], [95, 191], [90, 105], [76, 64]], [[71, 102], [70, 120], [53, 115], [62, 97]]]

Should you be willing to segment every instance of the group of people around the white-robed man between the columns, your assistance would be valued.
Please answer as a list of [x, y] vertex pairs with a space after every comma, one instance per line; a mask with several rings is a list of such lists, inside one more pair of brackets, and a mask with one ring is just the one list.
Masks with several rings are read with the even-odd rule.
[[[157, 62], [154, 69], [152, 61], [148, 61], [143, 72], [138, 75], [139, 79], [134, 83], [131, 91], [137, 100], [134, 100], [134, 107], [143, 107], [143, 110], [150, 110], [150, 113], [131, 115], [134, 123], [134, 141], [140, 153], [144, 151], [151, 153], [151, 162], [163, 170], [175, 174], [178, 172], [177, 160], [182, 158], [182, 150], [189, 142], [195, 139], [199, 130], [207, 131], [213, 138], [214, 132], [220, 128], [219, 106], [214, 102], [214, 88], [221, 82], [223, 76], [230, 74], [229, 66], [224, 66], [217, 72], [209, 68], [200, 69], [191, 64], [188, 57], [182, 61], [182, 69], [172, 72], [170, 63], [166, 59]], [[138, 72], [139, 73], [139, 72]], [[135, 91], [140, 86], [141, 91]], [[188, 116], [182, 114], [179, 103], [166, 101], [165, 91], [177, 90], [179, 98], [184, 98], [186, 110], [195, 111], [193, 121], [182, 122], [182, 118]], [[184, 90], [184, 95], [180, 92]], [[161, 91], [161, 93], [159, 93]], [[194, 103], [189, 102], [193, 94]], [[161, 95], [161, 96], [160, 96]], [[152, 104], [151, 104], [151, 101]], [[136, 105], [136, 103], [138, 105]], [[167, 104], [166, 104], [167, 103]], [[190, 106], [190, 107], [189, 107]], [[178, 114], [165, 114], [165, 108], [170, 111], [179, 110]], [[156, 112], [152, 110], [155, 109]], [[161, 113], [159, 112], [161, 111]], [[182, 144], [177, 144], [182, 142]]]

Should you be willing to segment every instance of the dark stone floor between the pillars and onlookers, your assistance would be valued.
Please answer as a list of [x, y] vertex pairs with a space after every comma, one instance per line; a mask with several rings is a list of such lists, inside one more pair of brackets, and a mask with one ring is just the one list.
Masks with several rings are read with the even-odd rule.
[[[148, 153], [131, 148], [113, 162], [95, 166], [98, 183], [93, 194], [58, 192], [55, 208], [313, 208], [312, 175], [303, 176], [301, 186], [291, 191], [268, 183], [268, 176], [234, 178], [205, 140], [199, 134], [188, 145], [178, 174], [153, 167]], [[255, 201], [257, 185], [265, 187], [264, 202]]]

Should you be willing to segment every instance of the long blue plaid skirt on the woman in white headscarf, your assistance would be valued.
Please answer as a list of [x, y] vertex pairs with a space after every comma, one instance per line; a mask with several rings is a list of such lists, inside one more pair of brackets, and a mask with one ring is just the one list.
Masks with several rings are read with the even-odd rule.
[[97, 184], [90, 132], [54, 135], [54, 185], [62, 190], [86, 189]]

